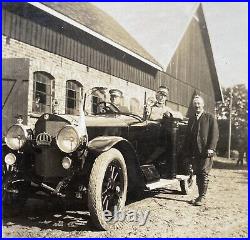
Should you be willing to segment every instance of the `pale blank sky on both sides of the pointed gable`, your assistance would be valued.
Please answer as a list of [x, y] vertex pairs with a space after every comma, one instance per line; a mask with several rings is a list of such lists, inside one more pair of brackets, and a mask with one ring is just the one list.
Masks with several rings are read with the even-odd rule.
[[[197, 8], [194, 2], [98, 2], [166, 69]], [[202, 3], [222, 87], [248, 84], [248, 3]]]

